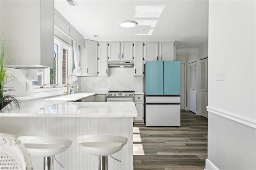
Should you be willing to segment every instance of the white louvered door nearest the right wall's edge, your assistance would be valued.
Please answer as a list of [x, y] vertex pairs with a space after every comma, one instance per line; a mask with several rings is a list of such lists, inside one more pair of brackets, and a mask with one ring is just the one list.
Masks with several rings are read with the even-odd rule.
[[200, 60], [200, 115], [207, 117], [208, 105], [208, 58]]

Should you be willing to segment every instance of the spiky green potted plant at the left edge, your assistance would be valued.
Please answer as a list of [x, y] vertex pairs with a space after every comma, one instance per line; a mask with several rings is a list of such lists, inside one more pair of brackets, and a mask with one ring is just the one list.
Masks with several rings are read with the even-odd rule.
[[0, 35], [0, 110], [2, 110], [6, 105], [12, 102], [16, 108], [20, 109], [21, 102], [15, 95], [9, 94], [14, 91], [13, 87], [6, 87], [8, 82], [17, 81], [14, 75], [7, 73], [8, 68], [5, 67], [8, 56], [4, 53], [4, 40]]

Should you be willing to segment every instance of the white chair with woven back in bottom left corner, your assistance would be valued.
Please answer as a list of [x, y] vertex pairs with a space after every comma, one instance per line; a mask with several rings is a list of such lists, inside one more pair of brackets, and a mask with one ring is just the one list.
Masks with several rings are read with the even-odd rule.
[[[1, 136], [2, 135], [2, 136]], [[20, 140], [6, 134], [0, 135], [0, 169], [32, 170], [28, 150]], [[5, 135], [5, 136], [3, 136]]]

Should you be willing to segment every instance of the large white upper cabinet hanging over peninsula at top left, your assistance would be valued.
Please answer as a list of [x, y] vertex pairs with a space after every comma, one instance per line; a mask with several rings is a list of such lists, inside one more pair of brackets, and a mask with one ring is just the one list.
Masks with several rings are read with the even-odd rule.
[[54, 1], [0, 2], [0, 30], [8, 64], [53, 67]]

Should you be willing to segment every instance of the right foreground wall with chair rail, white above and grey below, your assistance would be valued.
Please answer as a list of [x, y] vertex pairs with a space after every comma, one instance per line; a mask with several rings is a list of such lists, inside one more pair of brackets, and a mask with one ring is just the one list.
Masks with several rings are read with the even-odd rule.
[[255, 1], [209, 1], [206, 169], [256, 169], [255, 10]]

